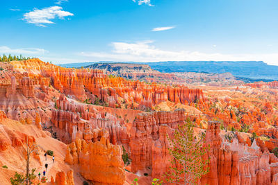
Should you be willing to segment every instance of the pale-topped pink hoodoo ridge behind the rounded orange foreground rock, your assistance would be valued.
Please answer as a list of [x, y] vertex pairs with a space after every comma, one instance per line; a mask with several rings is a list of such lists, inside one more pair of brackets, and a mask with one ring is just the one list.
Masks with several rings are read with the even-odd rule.
[[59, 109], [52, 110], [51, 122], [63, 130], [63, 141], [66, 143], [78, 138], [97, 141], [104, 130], [108, 132], [111, 143], [129, 143], [129, 134], [122, 118], [102, 114], [95, 109], [95, 105], [70, 102], [65, 96], [60, 96], [56, 104]]

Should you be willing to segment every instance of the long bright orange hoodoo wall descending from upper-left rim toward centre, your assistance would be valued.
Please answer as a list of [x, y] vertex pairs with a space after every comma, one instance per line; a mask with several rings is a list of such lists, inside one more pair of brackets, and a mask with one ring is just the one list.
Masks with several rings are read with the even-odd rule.
[[[155, 82], [125, 80], [120, 77], [108, 77], [97, 69], [65, 69], [38, 59], [11, 62], [18, 71], [31, 76], [51, 79], [51, 84], [61, 93], [84, 101], [99, 98], [110, 107], [120, 107], [125, 100], [127, 106], [152, 107], [163, 100], [187, 103], [202, 100], [200, 89], [188, 89], [184, 86], [165, 87]], [[30, 75], [29, 75], [30, 76]], [[93, 95], [93, 96], [92, 96]]]

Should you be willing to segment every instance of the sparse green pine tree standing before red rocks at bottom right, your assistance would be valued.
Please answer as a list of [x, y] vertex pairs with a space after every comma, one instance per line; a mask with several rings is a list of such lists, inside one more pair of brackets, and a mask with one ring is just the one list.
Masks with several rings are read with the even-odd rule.
[[186, 121], [174, 132], [173, 138], [167, 136], [172, 157], [170, 171], [166, 173], [167, 182], [175, 184], [197, 184], [197, 180], [208, 173], [208, 159], [203, 156], [209, 150], [205, 143], [205, 134], [194, 136], [193, 124]]

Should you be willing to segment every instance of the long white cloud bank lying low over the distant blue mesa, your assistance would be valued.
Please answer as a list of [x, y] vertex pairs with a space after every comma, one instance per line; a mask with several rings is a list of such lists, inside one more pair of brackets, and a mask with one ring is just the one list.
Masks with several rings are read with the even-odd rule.
[[113, 42], [113, 50], [109, 53], [81, 52], [91, 61], [112, 60], [116, 62], [160, 62], [160, 61], [249, 61], [262, 60], [268, 64], [278, 65], [278, 53], [264, 54], [222, 54], [222, 53], [202, 53], [199, 51], [167, 51], [157, 49], [152, 42]]

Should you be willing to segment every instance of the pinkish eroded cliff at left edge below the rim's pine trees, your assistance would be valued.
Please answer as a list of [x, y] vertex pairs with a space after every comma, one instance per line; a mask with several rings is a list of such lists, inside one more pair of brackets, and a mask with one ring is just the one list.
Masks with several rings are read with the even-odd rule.
[[49, 78], [34, 76], [16, 69], [11, 63], [2, 63], [0, 80], [0, 109], [8, 118], [26, 120], [40, 114], [42, 122], [51, 116], [51, 97], [55, 90], [49, 87]]

